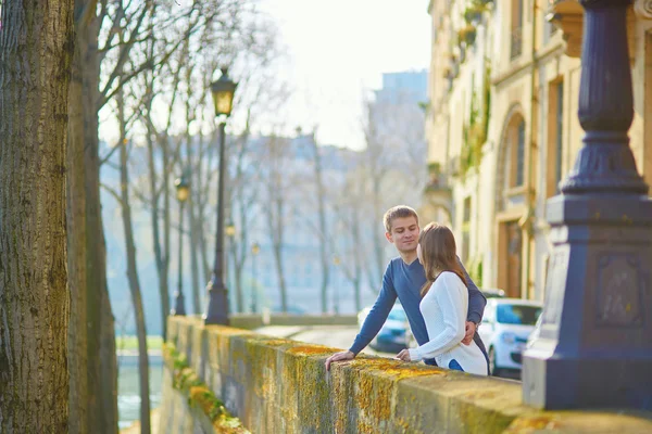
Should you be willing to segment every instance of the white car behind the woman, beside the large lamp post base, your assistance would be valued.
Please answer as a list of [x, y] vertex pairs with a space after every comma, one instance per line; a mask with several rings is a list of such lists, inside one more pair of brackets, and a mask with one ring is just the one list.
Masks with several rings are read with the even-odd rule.
[[492, 375], [521, 371], [522, 354], [543, 305], [522, 298], [489, 298], [478, 333], [487, 347]]

